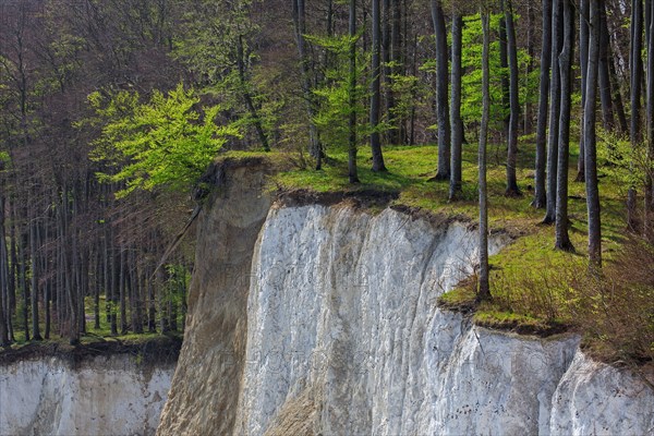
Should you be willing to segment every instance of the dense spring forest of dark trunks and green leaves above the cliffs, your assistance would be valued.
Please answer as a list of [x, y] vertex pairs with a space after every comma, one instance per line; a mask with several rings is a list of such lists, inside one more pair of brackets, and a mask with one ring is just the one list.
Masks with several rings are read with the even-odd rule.
[[505, 195], [533, 197], [558, 250], [585, 183], [594, 275], [605, 168], [652, 249], [654, 1], [22, 0], [0, 21], [2, 344], [181, 329], [193, 247], [169, 247], [221, 149], [312, 171], [344, 153], [356, 184], [359, 150], [392, 173], [385, 147], [437, 144], [432, 182], [457, 202], [479, 146], [483, 247], [499, 144]]

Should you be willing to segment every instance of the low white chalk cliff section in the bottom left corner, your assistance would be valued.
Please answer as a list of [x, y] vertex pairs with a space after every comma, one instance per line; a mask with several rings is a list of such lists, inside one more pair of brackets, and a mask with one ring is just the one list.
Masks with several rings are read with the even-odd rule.
[[77, 368], [58, 358], [2, 365], [0, 434], [154, 434], [173, 371], [145, 368], [129, 355]]

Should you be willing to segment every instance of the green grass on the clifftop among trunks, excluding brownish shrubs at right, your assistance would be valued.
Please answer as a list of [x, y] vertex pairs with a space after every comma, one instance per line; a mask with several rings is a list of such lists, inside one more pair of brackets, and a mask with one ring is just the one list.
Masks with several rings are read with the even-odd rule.
[[[511, 329], [524, 334], [550, 335], [576, 324], [568, 310], [572, 276], [583, 274], [586, 256], [585, 185], [573, 182], [577, 175], [577, 144], [571, 144], [569, 167], [570, 239], [576, 253], [554, 250], [554, 226], [543, 226], [544, 210], [531, 206], [533, 197], [533, 162], [535, 148], [530, 138], [520, 144], [518, 182], [523, 196], [505, 196], [504, 146], [488, 149], [488, 205], [492, 231], [504, 231], [513, 237], [511, 244], [491, 257], [493, 303], [476, 307], [477, 324], [493, 328]], [[347, 153], [329, 152], [328, 165], [323, 170], [292, 169], [281, 172], [276, 183], [282, 189], [311, 189], [316, 192], [380, 191], [397, 192], [395, 204], [420, 207], [448, 216], [477, 220], [477, 150], [476, 144], [463, 147], [463, 195], [448, 202], [448, 182], [431, 181], [436, 175], [437, 148], [427, 146], [386, 147], [384, 158], [387, 173], [371, 170], [372, 157], [367, 147], [359, 150], [360, 184], [348, 183]], [[626, 192], [619, 183], [609, 180], [600, 169], [602, 198], [603, 255], [609, 264], [625, 241]], [[462, 311], [475, 304], [474, 280], [441, 296], [439, 304]]]

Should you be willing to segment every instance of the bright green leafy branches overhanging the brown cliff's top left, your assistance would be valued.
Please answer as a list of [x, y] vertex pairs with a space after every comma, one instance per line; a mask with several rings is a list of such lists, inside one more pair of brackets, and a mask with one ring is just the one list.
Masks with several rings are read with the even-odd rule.
[[189, 189], [228, 136], [239, 135], [233, 126], [215, 124], [219, 106], [196, 110], [199, 98], [182, 85], [168, 95], [155, 92], [146, 104], [138, 102], [137, 93], [128, 92], [116, 94], [109, 101], [99, 93], [88, 99], [98, 118], [107, 120], [94, 143], [93, 158], [109, 165], [109, 171], [99, 178], [125, 182], [117, 197], [136, 189]]

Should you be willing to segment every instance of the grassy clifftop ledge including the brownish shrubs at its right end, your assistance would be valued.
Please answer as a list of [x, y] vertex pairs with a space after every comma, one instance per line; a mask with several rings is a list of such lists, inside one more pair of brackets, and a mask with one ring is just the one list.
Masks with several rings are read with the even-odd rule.
[[[578, 146], [572, 143], [570, 148], [569, 180], [574, 180]], [[606, 287], [592, 283], [585, 277], [589, 268], [584, 184], [571, 182], [569, 185], [569, 233], [576, 252], [556, 251], [554, 226], [543, 226], [544, 211], [531, 206], [535, 158], [533, 142], [523, 138], [520, 144], [518, 182], [523, 195], [517, 198], [504, 195], [504, 145], [491, 145], [488, 152], [491, 231], [509, 234], [511, 243], [491, 257], [492, 302], [481, 306], [474, 304], [473, 277], [468, 283], [443, 295], [439, 305], [448, 310], [474, 312], [473, 319], [477, 325], [517, 334], [545, 337], [565, 330], [579, 331], [588, 347], [604, 350], [598, 358], [605, 361], [623, 359], [626, 355], [651, 361], [654, 355], [654, 322], [645, 315], [649, 308], [654, 311], [652, 288], [642, 290], [637, 296], [627, 295], [622, 302], [617, 301], [616, 295], [610, 296], [614, 299], [610, 303], [614, 308], [607, 311]], [[397, 198], [390, 203], [391, 206], [420, 208], [472, 222], [477, 220], [475, 144], [463, 147], [463, 195], [457, 202], [447, 199], [447, 181], [432, 180], [437, 167], [436, 146], [385, 147], [384, 157], [389, 172], [373, 172], [370, 150], [367, 147], [360, 148], [358, 166], [361, 183], [356, 185], [348, 183], [344, 150], [329, 152], [322, 170], [293, 168], [277, 174], [274, 183], [280, 190], [311, 190], [317, 193], [393, 192]], [[623, 206], [627, 192], [622, 184], [611, 179], [610, 172], [604, 173], [602, 168], [600, 178], [603, 256], [605, 270], [610, 272], [623, 257], [628, 242]], [[603, 279], [614, 282], [611, 277]], [[628, 283], [622, 284], [625, 293], [629, 294]], [[646, 303], [649, 296], [652, 301]], [[628, 319], [629, 308], [640, 304], [635, 303], [637, 300], [645, 302], [641, 304], [644, 306], [641, 311], [643, 316]], [[600, 323], [597, 319], [603, 320]], [[614, 322], [620, 326], [611, 326]], [[621, 326], [630, 323], [630, 327]], [[637, 327], [645, 334], [634, 341], [629, 339], [629, 331], [634, 331]]]

